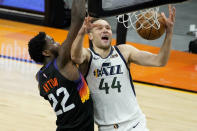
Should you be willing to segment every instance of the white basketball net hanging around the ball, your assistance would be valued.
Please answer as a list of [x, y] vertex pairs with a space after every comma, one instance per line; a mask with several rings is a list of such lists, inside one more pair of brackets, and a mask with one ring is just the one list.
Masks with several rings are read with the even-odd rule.
[[[117, 16], [119, 23], [122, 23], [126, 28], [133, 27], [135, 30], [141, 28], [160, 28], [160, 23], [158, 21], [158, 12], [159, 7], [144, 9], [140, 11], [135, 11], [127, 14], [122, 14]], [[139, 26], [136, 26], [136, 23], [139, 23]]]

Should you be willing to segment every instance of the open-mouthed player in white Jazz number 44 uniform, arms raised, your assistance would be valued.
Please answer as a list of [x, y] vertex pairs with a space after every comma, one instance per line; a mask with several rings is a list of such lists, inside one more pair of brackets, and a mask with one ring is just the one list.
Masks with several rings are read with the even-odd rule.
[[[72, 49], [72, 60], [79, 64], [86, 77], [94, 103], [95, 122], [99, 131], [148, 131], [130, 75], [131, 63], [143, 66], [166, 65], [171, 49], [175, 8], [169, 5], [165, 19], [166, 36], [158, 54], [141, 51], [131, 45], [111, 46], [112, 30], [109, 23], [86, 18]], [[83, 48], [88, 33], [92, 48]]]

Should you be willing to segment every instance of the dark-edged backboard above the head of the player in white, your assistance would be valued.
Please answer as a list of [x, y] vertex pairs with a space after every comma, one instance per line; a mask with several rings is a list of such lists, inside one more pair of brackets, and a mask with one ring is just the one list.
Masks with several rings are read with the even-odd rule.
[[92, 17], [107, 17], [184, 1], [188, 0], [88, 0], [88, 13]]

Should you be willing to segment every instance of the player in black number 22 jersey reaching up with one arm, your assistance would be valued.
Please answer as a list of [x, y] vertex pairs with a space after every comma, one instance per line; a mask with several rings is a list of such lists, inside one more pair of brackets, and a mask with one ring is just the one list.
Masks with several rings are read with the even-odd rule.
[[40, 95], [57, 115], [57, 131], [93, 131], [93, 104], [89, 88], [71, 61], [71, 45], [85, 17], [85, 0], [73, 0], [70, 32], [60, 46], [40, 32], [29, 41], [31, 58], [43, 64], [36, 75]]

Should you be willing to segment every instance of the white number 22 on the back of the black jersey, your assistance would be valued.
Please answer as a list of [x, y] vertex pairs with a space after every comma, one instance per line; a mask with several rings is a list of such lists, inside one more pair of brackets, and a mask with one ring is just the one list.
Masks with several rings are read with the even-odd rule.
[[60, 101], [62, 109], [57, 109], [57, 110], [56, 110], [56, 106], [58, 104], [57, 98], [55, 98], [55, 96], [52, 93], [50, 93], [48, 95], [49, 100], [52, 100], [53, 101], [52, 107], [53, 107], [53, 109], [54, 109], [54, 111], [55, 111], [55, 113], [56, 113], [57, 116], [58, 115], [61, 115], [64, 112], [67, 112], [67, 111], [75, 108], [75, 104], [70, 104], [68, 106], [65, 106], [66, 105], [66, 102], [67, 102], [67, 100], [68, 100], [68, 98], [70, 96], [68, 94], [68, 91], [66, 90], [66, 88], [61, 87], [61, 88], [59, 88], [59, 89], [56, 90], [57, 97], [60, 95], [60, 93], [64, 93], [64, 97]]

